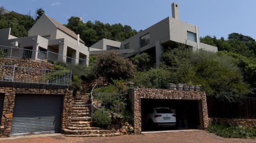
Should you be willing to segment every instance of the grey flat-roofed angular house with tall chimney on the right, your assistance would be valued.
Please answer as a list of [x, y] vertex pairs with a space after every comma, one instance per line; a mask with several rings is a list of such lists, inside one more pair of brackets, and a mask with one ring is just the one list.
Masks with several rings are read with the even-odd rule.
[[122, 41], [120, 46], [117, 43], [119, 42], [102, 39], [90, 47], [90, 55], [100, 54], [108, 50], [112, 51], [113, 49], [118, 49], [125, 57], [131, 57], [141, 52], [150, 52], [156, 57], [156, 66], [158, 67], [163, 50], [168, 47], [175, 47], [177, 43], [191, 46], [194, 50], [218, 51], [217, 47], [200, 42], [197, 25], [180, 20], [179, 6], [176, 3], [172, 4], [172, 17], [167, 17], [133, 37]]

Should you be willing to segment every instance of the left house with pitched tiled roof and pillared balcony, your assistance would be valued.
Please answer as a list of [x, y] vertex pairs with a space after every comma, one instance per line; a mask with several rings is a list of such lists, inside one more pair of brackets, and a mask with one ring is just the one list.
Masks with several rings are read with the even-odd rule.
[[66, 26], [42, 15], [28, 32], [17, 38], [11, 28], [0, 30], [0, 50], [12, 58], [51, 60], [72, 64], [89, 64], [89, 48]]

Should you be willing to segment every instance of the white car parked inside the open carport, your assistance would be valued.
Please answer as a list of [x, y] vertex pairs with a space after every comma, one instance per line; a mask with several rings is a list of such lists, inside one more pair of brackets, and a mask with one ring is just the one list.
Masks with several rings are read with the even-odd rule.
[[176, 126], [176, 116], [170, 108], [155, 107], [147, 111], [145, 117], [148, 126]]

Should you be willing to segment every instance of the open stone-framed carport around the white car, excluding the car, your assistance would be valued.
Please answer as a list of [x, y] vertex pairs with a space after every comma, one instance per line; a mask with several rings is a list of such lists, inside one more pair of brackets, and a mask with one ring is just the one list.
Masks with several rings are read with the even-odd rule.
[[[147, 130], [146, 110], [169, 107], [176, 115], [176, 126], [170, 129], [205, 129], [208, 113], [205, 92], [135, 88], [130, 92], [134, 111], [135, 133]], [[160, 128], [161, 130], [161, 128]]]

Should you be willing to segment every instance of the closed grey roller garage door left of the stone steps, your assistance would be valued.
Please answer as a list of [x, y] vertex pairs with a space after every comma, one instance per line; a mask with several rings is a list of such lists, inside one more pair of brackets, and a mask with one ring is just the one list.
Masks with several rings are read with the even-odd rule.
[[11, 135], [58, 133], [62, 96], [16, 95]]

